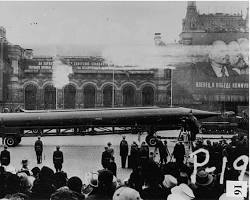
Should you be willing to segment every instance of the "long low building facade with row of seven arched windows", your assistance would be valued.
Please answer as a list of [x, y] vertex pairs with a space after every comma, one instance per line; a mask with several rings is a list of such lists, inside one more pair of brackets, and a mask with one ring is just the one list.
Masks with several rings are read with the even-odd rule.
[[116, 69], [101, 57], [64, 56], [59, 62], [71, 66], [72, 73], [65, 85], [55, 88], [55, 58], [33, 56], [31, 49], [11, 45], [4, 38], [2, 107], [39, 110], [170, 104], [169, 70]]

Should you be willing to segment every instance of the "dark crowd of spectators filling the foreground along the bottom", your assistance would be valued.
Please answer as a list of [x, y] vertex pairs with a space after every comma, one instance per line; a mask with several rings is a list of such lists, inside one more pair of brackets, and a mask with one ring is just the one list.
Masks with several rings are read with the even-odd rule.
[[[126, 167], [125, 155], [128, 151], [126, 146], [127, 142], [124, 137], [120, 145], [123, 168]], [[108, 143], [102, 154], [103, 169], [96, 174], [90, 173], [87, 178], [88, 184], [82, 182], [83, 177], [68, 177], [66, 172], [61, 170], [54, 172], [47, 166], [41, 169], [34, 167], [30, 170], [27, 160], [22, 161], [22, 168], [18, 172], [11, 172], [8, 166], [2, 165], [0, 167], [0, 198], [6, 200], [234, 199], [226, 196], [226, 180], [238, 180], [240, 171], [234, 169], [233, 161], [240, 155], [248, 156], [246, 137], [234, 136], [230, 141], [221, 140], [213, 143], [209, 140], [197, 140], [192, 147], [193, 151], [199, 148], [206, 149], [209, 151], [210, 159], [205, 166], [198, 169], [195, 183], [191, 182], [194, 166], [192, 160], [185, 159], [186, 151], [183, 142], [175, 145], [174, 158], [164, 151], [164, 147], [167, 148], [159, 141], [158, 148], [150, 152], [145, 142], [140, 147], [134, 142], [129, 157], [129, 167], [132, 168], [132, 173], [126, 180], [117, 178], [115, 152], [111, 143]], [[159, 152], [161, 157], [159, 162], [155, 161], [156, 152]], [[228, 163], [224, 182], [220, 184], [223, 157], [227, 157]], [[199, 162], [204, 159], [202, 154], [197, 158]], [[205, 168], [211, 166], [215, 166], [216, 170], [207, 172]], [[245, 174], [246, 181], [248, 181], [247, 174]]]

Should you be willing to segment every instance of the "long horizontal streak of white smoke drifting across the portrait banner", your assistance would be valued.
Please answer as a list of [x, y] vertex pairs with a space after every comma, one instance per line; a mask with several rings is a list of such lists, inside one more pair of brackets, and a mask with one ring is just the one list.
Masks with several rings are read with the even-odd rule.
[[104, 49], [102, 56], [116, 67], [150, 69], [167, 68], [180, 63], [204, 62], [209, 59], [223, 62], [222, 59], [226, 55], [232, 64], [237, 61], [239, 55], [248, 64], [248, 51], [248, 40], [241, 38], [229, 44], [216, 41], [213, 45], [109, 46]]

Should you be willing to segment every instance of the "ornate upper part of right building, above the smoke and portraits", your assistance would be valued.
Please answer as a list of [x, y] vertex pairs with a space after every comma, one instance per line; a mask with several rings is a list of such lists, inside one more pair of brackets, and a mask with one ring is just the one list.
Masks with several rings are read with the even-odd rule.
[[186, 45], [212, 45], [216, 40], [225, 43], [239, 38], [247, 38], [249, 34], [248, 9], [245, 19], [242, 14], [200, 14], [196, 2], [187, 2], [186, 16], [182, 22], [180, 43]]

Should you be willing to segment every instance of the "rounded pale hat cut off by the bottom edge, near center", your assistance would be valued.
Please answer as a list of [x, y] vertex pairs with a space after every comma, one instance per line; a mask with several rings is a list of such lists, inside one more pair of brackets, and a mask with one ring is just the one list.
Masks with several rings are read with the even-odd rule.
[[122, 186], [115, 191], [112, 200], [142, 200], [142, 199], [140, 193], [135, 189]]

